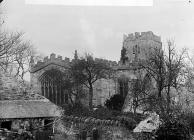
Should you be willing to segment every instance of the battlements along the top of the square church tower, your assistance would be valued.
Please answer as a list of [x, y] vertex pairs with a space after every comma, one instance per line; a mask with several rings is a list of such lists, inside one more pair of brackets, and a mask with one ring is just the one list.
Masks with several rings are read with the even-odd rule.
[[152, 31], [148, 32], [135, 32], [134, 34], [128, 34], [124, 35], [123, 40], [124, 41], [134, 41], [134, 40], [153, 40], [156, 42], [161, 42], [161, 37], [155, 35]]

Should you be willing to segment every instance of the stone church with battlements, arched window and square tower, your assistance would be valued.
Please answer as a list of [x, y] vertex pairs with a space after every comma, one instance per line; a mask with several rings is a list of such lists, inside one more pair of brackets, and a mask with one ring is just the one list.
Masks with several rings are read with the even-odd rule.
[[[137, 62], [147, 59], [155, 47], [162, 48], [161, 38], [151, 31], [124, 35], [120, 61], [103, 60], [109, 63], [116, 73], [112, 79], [100, 79], [95, 82], [94, 105], [104, 105], [105, 100], [114, 94], [127, 97], [130, 94], [130, 84], [141, 72]], [[56, 56], [54, 53], [36, 64], [32, 59], [30, 72], [33, 89], [57, 105], [67, 103], [67, 91], [62, 86], [61, 75], [72, 61], [73, 59], [62, 59], [62, 56]], [[143, 77], [146, 77], [145, 72]]]

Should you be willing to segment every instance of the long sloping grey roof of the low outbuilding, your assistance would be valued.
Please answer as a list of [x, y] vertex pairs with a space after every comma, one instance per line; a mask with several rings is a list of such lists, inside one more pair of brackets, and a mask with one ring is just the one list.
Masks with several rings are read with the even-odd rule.
[[0, 101], [0, 119], [57, 116], [60, 116], [58, 106], [47, 99]]

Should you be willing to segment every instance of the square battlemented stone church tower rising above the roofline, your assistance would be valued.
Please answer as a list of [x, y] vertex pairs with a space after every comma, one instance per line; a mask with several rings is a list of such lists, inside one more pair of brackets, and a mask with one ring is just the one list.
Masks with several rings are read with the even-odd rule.
[[124, 65], [145, 60], [153, 48], [162, 48], [161, 38], [153, 32], [135, 32], [123, 36], [121, 63]]

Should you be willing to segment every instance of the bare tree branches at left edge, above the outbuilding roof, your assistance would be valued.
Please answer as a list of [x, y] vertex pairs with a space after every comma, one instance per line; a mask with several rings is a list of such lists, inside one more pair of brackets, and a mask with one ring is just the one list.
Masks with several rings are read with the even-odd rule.
[[36, 56], [36, 52], [22, 37], [23, 33], [0, 33], [0, 68], [23, 81], [29, 72], [30, 58]]

